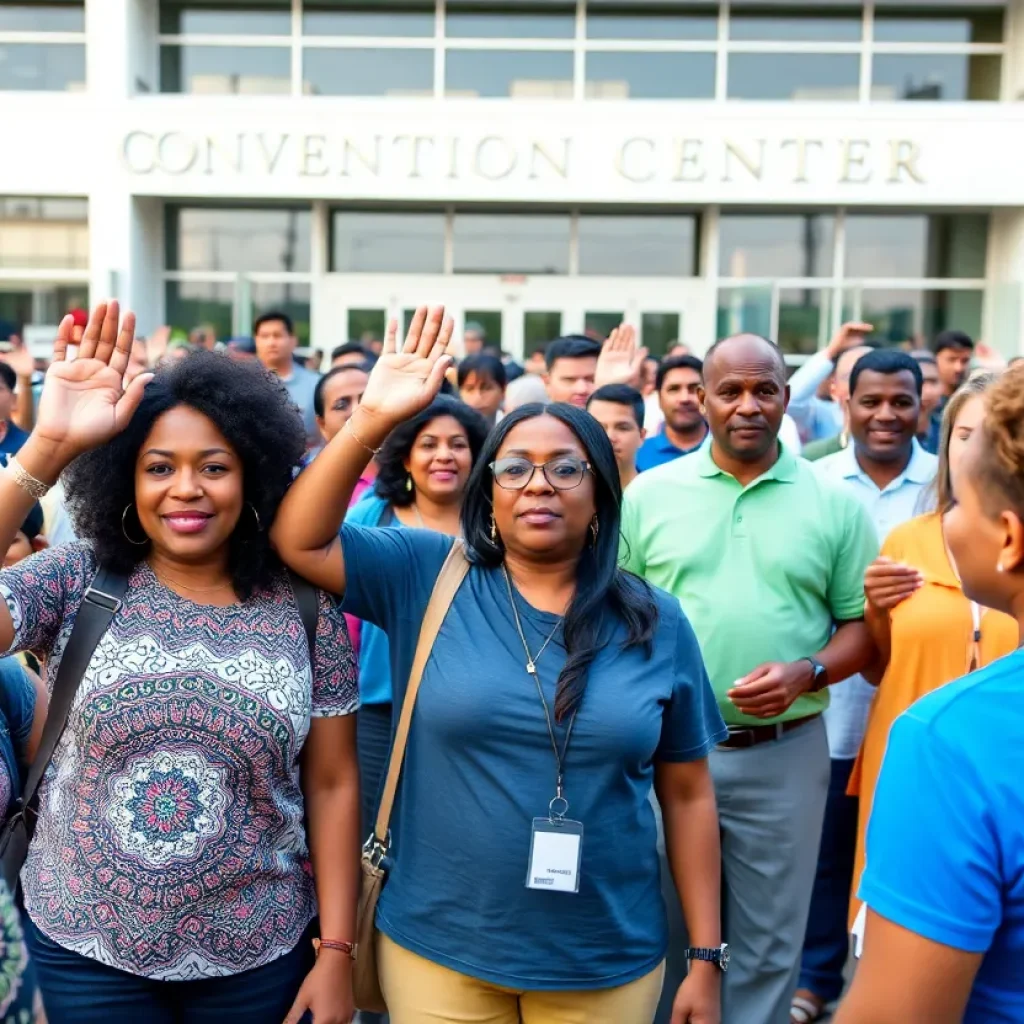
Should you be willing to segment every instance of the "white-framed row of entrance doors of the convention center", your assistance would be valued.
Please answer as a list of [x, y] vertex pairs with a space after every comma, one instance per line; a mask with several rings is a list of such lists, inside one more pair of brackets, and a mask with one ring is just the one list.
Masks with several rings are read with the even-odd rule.
[[658, 356], [714, 330], [713, 298], [699, 280], [327, 274], [313, 295], [314, 343], [382, 339], [388, 319], [404, 330], [417, 304], [438, 301], [455, 318], [457, 352], [474, 325], [517, 360], [566, 334], [604, 339], [624, 322]]

